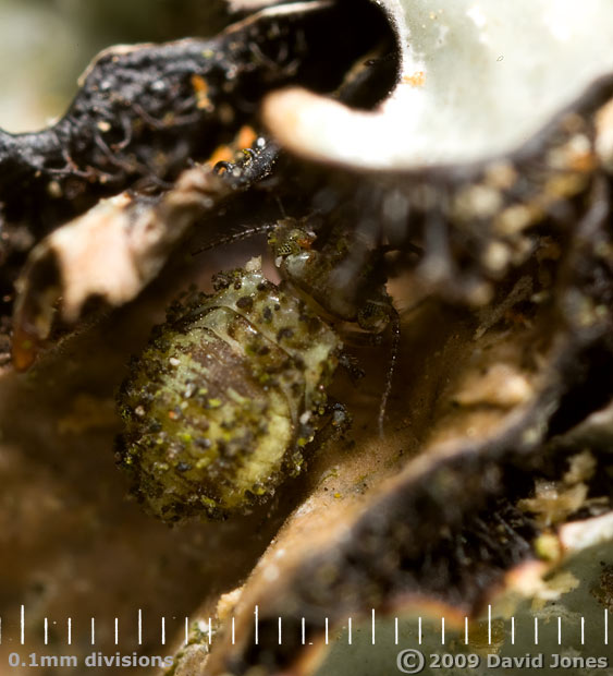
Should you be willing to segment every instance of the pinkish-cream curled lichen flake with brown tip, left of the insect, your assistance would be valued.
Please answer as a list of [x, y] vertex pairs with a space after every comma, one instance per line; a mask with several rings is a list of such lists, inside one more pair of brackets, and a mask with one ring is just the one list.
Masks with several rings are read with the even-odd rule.
[[186, 230], [235, 193], [270, 173], [274, 144], [257, 138], [231, 171], [185, 170], [157, 197], [122, 193], [54, 230], [32, 251], [16, 280], [13, 355], [26, 369], [49, 337], [57, 301], [74, 324], [86, 303], [123, 305], [154, 279]]

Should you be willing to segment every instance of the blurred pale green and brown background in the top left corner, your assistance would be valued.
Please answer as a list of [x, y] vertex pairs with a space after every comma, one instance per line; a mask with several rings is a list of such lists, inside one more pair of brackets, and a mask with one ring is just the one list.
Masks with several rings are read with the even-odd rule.
[[226, 21], [223, 0], [0, 0], [0, 126], [36, 131], [61, 116], [105, 47], [211, 35]]

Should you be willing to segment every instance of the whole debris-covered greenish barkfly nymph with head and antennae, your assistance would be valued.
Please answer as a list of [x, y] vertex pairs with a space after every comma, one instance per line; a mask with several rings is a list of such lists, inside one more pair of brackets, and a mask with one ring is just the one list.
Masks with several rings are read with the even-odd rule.
[[263, 229], [282, 282], [263, 276], [260, 258], [216, 275], [214, 293], [171, 306], [121, 388], [119, 464], [167, 522], [245, 511], [299, 473], [314, 447], [350, 424], [327, 395], [350, 362], [341, 337], [378, 342], [391, 327], [382, 423], [399, 334], [384, 279], [365, 275], [357, 294], [344, 293], [334, 286], [342, 237], [317, 250], [302, 220]]

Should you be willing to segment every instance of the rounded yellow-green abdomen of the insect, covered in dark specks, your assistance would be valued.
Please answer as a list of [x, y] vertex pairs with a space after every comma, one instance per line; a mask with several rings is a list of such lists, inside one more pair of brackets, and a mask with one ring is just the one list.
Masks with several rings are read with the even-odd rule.
[[341, 341], [259, 261], [175, 304], [131, 369], [119, 464], [164, 521], [243, 511], [303, 463]]

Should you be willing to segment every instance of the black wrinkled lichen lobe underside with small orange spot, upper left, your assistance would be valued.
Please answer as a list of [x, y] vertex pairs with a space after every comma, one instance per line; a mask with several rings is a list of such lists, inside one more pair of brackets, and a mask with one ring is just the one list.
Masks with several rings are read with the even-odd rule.
[[352, 31], [342, 29], [343, 8], [315, 1], [265, 11], [211, 39], [103, 51], [53, 126], [0, 131], [2, 220], [26, 220], [39, 237], [139, 180], [165, 185], [253, 123], [272, 88], [291, 82], [334, 89], [389, 35], [368, 3], [355, 7]]

